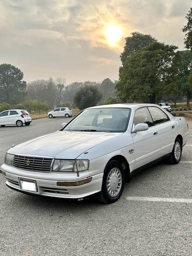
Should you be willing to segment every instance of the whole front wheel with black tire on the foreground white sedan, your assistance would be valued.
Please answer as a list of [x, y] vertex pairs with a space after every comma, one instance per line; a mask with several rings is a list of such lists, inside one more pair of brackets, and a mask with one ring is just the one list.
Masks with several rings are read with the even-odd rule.
[[122, 165], [115, 160], [109, 161], [103, 173], [102, 187], [97, 195], [97, 200], [104, 204], [114, 203], [123, 192], [124, 182], [125, 175]]

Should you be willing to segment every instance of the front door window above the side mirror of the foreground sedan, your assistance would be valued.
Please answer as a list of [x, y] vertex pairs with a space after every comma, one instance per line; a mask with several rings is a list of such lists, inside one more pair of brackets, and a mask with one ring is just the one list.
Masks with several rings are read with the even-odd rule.
[[153, 126], [153, 120], [147, 108], [139, 108], [135, 111], [133, 123], [136, 124], [148, 124], [149, 127]]

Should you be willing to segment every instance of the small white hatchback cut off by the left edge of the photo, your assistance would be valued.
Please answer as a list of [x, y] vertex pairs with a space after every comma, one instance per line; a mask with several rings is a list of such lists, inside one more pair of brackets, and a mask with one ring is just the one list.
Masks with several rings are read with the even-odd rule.
[[25, 109], [9, 109], [0, 113], [0, 125], [16, 124], [22, 126], [23, 124], [29, 125], [31, 123], [31, 117]]

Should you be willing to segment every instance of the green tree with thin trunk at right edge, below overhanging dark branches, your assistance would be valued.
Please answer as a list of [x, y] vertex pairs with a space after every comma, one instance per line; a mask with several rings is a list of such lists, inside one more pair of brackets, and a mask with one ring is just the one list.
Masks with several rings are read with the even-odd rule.
[[[192, 70], [192, 60], [190, 51], [177, 51], [173, 61], [173, 65], [177, 72], [177, 86], [179, 95], [187, 96], [187, 108], [189, 108], [189, 102], [192, 97], [192, 89], [190, 83], [188, 83], [189, 75]], [[178, 96], [178, 95], [177, 95]]]

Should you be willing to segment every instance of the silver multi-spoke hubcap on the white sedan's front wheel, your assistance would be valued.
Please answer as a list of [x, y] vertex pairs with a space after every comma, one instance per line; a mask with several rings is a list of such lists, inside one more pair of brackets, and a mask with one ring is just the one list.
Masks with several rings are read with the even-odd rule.
[[122, 186], [122, 174], [118, 168], [113, 168], [107, 177], [107, 191], [109, 196], [117, 196]]

